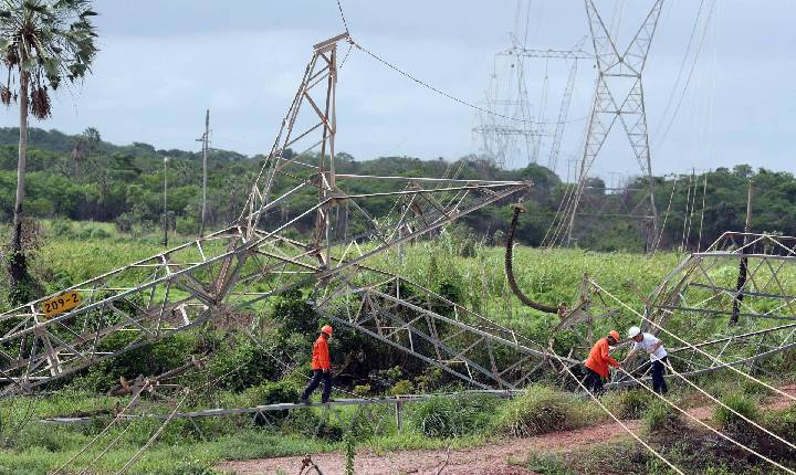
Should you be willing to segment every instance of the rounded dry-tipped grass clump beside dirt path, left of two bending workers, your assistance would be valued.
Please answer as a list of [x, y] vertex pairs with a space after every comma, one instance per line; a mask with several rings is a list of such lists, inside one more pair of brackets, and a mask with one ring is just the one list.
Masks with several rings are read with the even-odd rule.
[[587, 423], [583, 402], [546, 386], [532, 386], [498, 413], [495, 429], [516, 437], [576, 429]]

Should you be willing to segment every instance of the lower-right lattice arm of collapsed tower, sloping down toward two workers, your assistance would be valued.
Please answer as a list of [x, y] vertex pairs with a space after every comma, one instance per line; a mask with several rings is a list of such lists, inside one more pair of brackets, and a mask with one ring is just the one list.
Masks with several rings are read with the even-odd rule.
[[345, 283], [355, 297], [347, 309], [326, 307], [324, 315], [479, 388], [517, 389], [547, 366], [545, 348], [511, 328], [400, 276], [373, 273], [380, 278]]

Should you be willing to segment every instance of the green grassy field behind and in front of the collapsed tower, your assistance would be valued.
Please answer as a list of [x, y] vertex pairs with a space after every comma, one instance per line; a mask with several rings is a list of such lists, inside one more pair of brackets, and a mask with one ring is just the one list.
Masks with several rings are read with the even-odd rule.
[[[64, 230], [64, 226], [63, 222], [46, 222], [39, 249], [31, 260], [31, 268], [46, 292], [57, 292], [164, 250], [159, 244], [160, 236], [155, 234], [123, 235], [113, 226], [102, 223], [69, 223], [69, 230]], [[175, 236], [174, 242], [186, 239], [189, 238]], [[463, 305], [541, 340], [557, 323], [557, 317], [530, 310], [512, 295], [505, 282], [502, 247], [475, 244], [468, 251], [463, 249], [461, 240], [443, 233], [433, 242], [405, 246], [402, 251], [400, 257], [394, 252], [375, 257], [369, 264], [402, 274], [437, 292], [453, 288], [451, 292], [457, 294], [457, 300]], [[674, 253], [658, 253], [648, 257], [618, 252], [520, 246], [515, 251], [514, 267], [520, 286], [540, 302], [573, 303], [580, 292], [584, 274], [588, 274], [606, 289], [641, 310], [641, 296], [649, 295], [682, 257]], [[638, 318], [628, 312], [621, 312], [618, 317], [600, 323], [600, 326], [604, 329], [616, 326], [624, 331], [626, 325], [637, 321]], [[191, 338], [199, 336], [192, 334]], [[178, 352], [180, 347], [172, 345], [169, 348]], [[232, 355], [240, 358], [240, 353]], [[111, 380], [113, 378], [115, 374], [111, 376]], [[300, 387], [302, 382], [301, 378], [295, 377], [294, 387]], [[744, 390], [741, 384], [721, 379], [705, 378], [704, 382], [715, 384], [719, 388], [716, 393]], [[207, 390], [191, 397], [184, 409], [255, 405], [262, 403], [262, 394], [268, 393], [268, 381], [243, 391]], [[624, 397], [611, 397], [614, 400], [609, 398], [606, 403], [614, 404], [617, 411], [624, 410]], [[689, 398], [687, 393], [681, 394], [682, 400]], [[66, 384], [53, 394], [0, 401], [0, 442], [4, 447], [0, 451], [0, 475], [49, 473], [86, 445], [90, 445], [88, 450], [69, 465], [67, 473], [80, 473], [83, 467], [91, 467], [91, 473], [114, 473], [134, 456], [160, 425], [156, 420], [121, 423], [91, 444], [111, 422], [107, 413], [116, 404], [124, 405], [127, 401], [125, 398], [109, 398], [86, 391], [81, 389], [80, 383]], [[164, 413], [170, 410], [167, 404], [149, 398], [145, 398], [142, 408]], [[524, 397], [509, 402], [460, 398], [409, 404], [407, 424], [401, 432], [395, 426], [391, 410], [386, 407], [368, 414], [369, 418], [383, 416], [387, 421], [378, 435], [353, 429], [358, 418], [363, 416], [353, 408], [337, 410], [336, 415], [317, 409], [301, 410], [280, 419], [271, 428], [259, 428], [247, 416], [206, 419], [196, 423], [177, 420], [165, 429], [135, 464], [133, 473], [202, 474], [209, 473], [209, 467], [220, 460], [342, 450], [346, 434], [354, 434], [358, 447], [378, 453], [396, 448], [484, 444], [506, 435], [526, 436], [606, 420], [605, 414], [587, 400], [546, 387], [533, 387]], [[559, 412], [554, 418], [556, 424], [544, 419], [549, 416], [552, 410]], [[92, 411], [105, 411], [106, 414], [87, 425], [54, 426], [39, 422], [42, 418]], [[637, 410], [628, 416], [640, 416], [642, 413], [643, 410]], [[106, 447], [109, 447], [107, 453], [104, 452]], [[556, 467], [564, 464], [559, 462], [542, 457], [530, 460], [527, 465], [547, 464]], [[564, 466], [562, 469], [568, 468]]]

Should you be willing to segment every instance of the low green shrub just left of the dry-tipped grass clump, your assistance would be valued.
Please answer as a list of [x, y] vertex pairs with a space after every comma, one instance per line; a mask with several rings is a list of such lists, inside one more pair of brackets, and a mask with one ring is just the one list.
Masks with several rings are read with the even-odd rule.
[[489, 395], [432, 397], [412, 404], [409, 420], [428, 437], [457, 437], [484, 431], [496, 400]]

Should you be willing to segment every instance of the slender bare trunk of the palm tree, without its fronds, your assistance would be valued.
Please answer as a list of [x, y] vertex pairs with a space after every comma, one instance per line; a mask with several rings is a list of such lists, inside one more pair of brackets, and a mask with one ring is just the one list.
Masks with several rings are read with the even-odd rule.
[[[20, 56], [20, 62], [24, 57]], [[14, 203], [13, 236], [11, 240], [11, 256], [9, 258], [9, 274], [11, 276], [11, 300], [21, 304], [28, 300], [27, 288], [28, 264], [22, 250], [22, 202], [24, 201], [25, 162], [28, 159], [28, 86], [30, 76], [27, 71], [20, 71], [20, 142], [19, 159], [17, 162], [17, 201]]]

